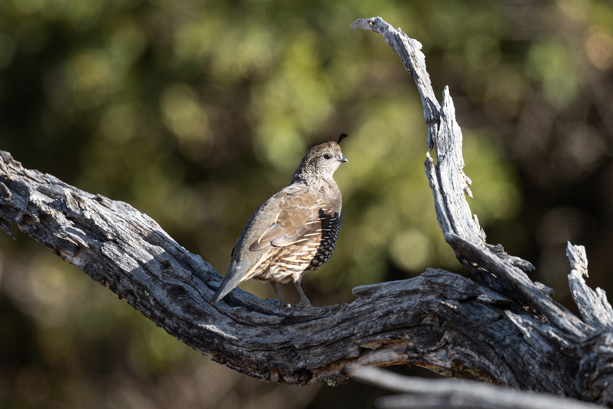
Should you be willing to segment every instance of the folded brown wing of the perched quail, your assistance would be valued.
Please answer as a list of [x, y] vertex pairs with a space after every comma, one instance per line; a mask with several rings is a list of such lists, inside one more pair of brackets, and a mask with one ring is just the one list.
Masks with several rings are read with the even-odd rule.
[[278, 200], [278, 208], [271, 212], [268, 227], [262, 231], [249, 250], [259, 251], [272, 247], [285, 247], [314, 236], [321, 236], [322, 224], [327, 224], [329, 209], [313, 193], [288, 193]]

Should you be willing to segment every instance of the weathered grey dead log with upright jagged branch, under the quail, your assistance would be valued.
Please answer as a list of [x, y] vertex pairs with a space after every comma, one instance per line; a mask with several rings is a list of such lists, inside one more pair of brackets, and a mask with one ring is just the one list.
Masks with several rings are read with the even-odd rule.
[[[421, 44], [381, 18], [352, 29], [379, 32], [413, 76], [428, 126], [425, 173], [436, 217], [474, 275], [427, 269], [410, 280], [354, 288], [356, 300], [313, 309], [276, 308], [242, 290], [208, 302], [221, 276], [158, 223], [121, 201], [28, 170], [0, 151], [0, 227], [49, 247], [192, 348], [262, 380], [345, 382], [354, 366], [410, 364], [613, 406], [613, 310], [585, 285], [581, 246], [567, 247], [569, 285], [582, 319], [532, 282], [527, 261], [485, 242], [466, 201], [462, 132], [449, 89], [436, 100]], [[347, 222], [350, 222], [349, 220]]]

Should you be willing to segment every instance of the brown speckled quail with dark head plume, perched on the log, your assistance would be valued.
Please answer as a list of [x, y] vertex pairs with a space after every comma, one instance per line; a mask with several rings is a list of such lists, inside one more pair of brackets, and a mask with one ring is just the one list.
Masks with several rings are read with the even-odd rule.
[[[341, 133], [338, 142], [346, 137]], [[253, 213], [232, 249], [223, 282], [211, 302], [248, 279], [270, 282], [279, 307], [290, 305], [276, 283], [294, 282], [298, 306], [311, 307], [300, 287], [302, 276], [332, 256], [343, 220], [343, 202], [332, 174], [348, 162], [335, 141], [313, 146], [292, 180]]]

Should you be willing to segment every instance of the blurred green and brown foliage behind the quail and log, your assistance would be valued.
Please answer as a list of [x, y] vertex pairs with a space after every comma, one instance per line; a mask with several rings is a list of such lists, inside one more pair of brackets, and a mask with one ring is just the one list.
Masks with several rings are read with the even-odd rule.
[[[303, 281], [311, 301], [463, 272], [436, 224], [413, 79], [379, 36], [348, 29], [374, 15], [422, 42], [438, 92], [449, 84], [489, 241], [566, 305], [565, 242], [584, 244], [590, 285], [611, 290], [610, 1], [3, 0], [0, 149], [132, 204], [224, 272], [251, 212], [346, 131], [345, 223]], [[378, 393], [219, 366], [17, 233], [0, 236], [3, 408], [368, 407]]]

